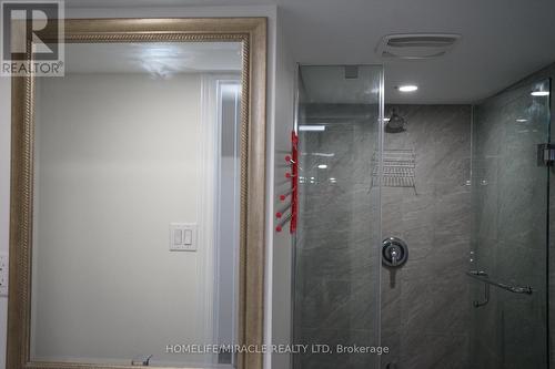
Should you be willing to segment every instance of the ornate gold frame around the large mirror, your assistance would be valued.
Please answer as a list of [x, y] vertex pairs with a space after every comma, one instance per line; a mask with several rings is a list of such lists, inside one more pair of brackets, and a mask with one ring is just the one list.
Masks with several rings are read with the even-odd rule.
[[[266, 19], [72, 19], [65, 42], [241, 42], [241, 223], [238, 344], [263, 344]], [[29, 49], [29, 48], [28, 48]], [[33, 362], [30, 358], [34, 79], [12, 78], [10, 280], [7, 368], [137, 368]], [[239, 353], [239, 368], [262, 368], [262, 353]]]

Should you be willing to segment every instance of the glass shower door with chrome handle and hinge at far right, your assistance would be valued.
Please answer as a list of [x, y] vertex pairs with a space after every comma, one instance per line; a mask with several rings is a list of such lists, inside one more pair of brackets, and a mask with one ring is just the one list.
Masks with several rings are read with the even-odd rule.
[[[547, 368], [551, 82], [508, 90], [473, 122], [471, 367]], [[528, 289], [531, 288], [531, 289]]]

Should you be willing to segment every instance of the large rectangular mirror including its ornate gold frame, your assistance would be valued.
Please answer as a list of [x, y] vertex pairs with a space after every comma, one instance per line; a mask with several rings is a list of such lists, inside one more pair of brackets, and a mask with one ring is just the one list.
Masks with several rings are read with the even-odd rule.
[[7, 367], [262, 368], [266, 20], [65, 20], [64, 49], [12, 80]]

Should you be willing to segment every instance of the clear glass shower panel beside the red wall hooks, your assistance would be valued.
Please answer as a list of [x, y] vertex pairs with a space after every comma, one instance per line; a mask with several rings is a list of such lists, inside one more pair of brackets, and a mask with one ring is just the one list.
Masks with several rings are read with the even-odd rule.
[[[294, 369], [377, 369], [381, 66], [301, 66]], [[321, 346], [319, 346], [321, 345]], [[343, 350], [343, 351], [342, 351]], [[350, 352], [350, 353], [347, 353]]]

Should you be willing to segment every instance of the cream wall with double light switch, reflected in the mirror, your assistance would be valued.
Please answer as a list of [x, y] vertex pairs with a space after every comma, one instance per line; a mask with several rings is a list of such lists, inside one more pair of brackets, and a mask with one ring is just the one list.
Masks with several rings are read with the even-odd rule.
[[210, 337], [206, 245], [169, 252], [169, 225], [202, 228], [201, 75], [70, 74], [38, 94], [36, 359], [189, 362], [165, 346]]

